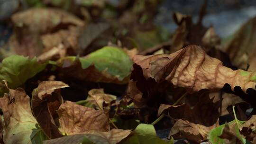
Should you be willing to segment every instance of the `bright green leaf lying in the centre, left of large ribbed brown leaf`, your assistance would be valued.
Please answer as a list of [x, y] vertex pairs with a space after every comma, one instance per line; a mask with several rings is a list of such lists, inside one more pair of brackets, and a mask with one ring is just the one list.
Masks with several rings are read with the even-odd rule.
[[121, 48], [113, 46], [105, 46], [79, 60], [83, 69], [94, 64], [97, 70], [107, 70], [110, 75], [118, 76], [120, 81], [129, 75], [133, 64]]

